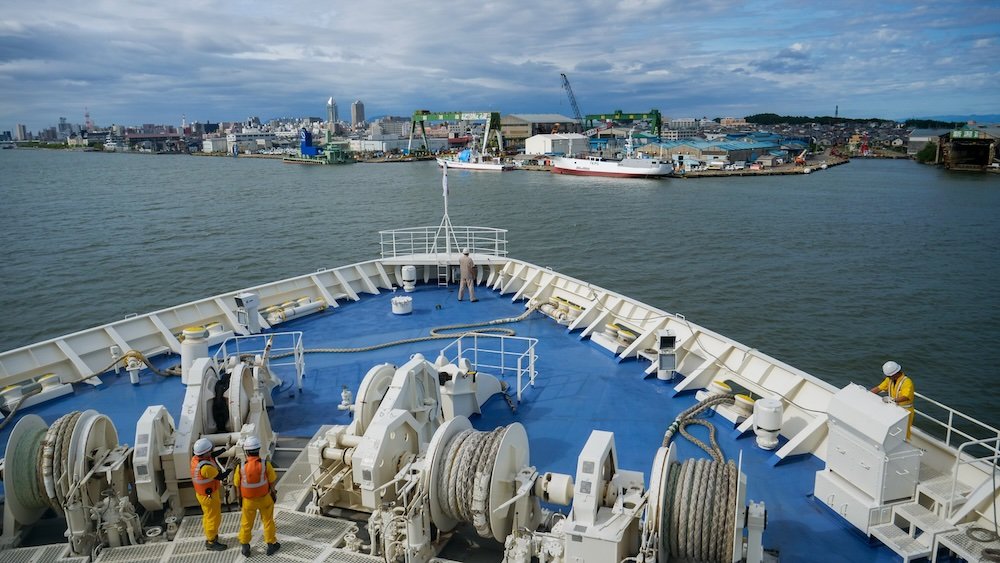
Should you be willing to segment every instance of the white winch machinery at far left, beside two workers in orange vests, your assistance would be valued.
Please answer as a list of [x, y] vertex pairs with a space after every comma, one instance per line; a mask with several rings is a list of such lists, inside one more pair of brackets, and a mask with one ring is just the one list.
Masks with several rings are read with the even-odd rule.
[[184, 485], [195, 440], [206, 437], [228, 449], [224, 459], [240, 455], [235, 446], [250, 434], [265, 448], [273, 444], [265, 403], [278, 382], [267, 354], [217, 361], [207, 356], [203, 332], [186, 331], [187, 390], [179, 424], [166, 407], [148, 407], [136, 423], [134, 447], [120, 445], [111, 419], [94, 410], [72, 412], [51, 426], [37, 415], [18, 420], [4, 459], [0, 550], [18, 546], [48, 510], [65, 518], [74, 556], [143, 543], [144, 526], [154, 513], [172, 537], [185, 507], [197, 506], [193, 490]]

